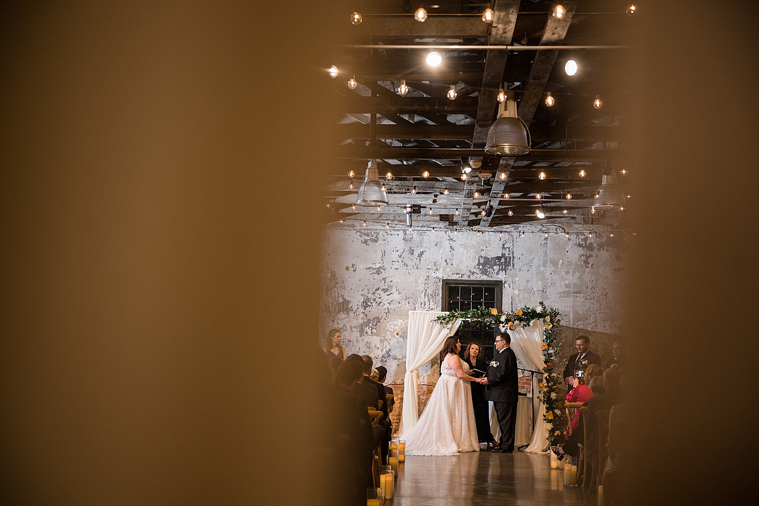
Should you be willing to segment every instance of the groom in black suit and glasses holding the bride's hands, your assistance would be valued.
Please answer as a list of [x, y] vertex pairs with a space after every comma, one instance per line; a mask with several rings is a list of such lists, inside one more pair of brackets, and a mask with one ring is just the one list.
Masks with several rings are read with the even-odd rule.
[[496, 408], [498, 424], [501, 426], [501, 442], [493, 448], [498, 453], [514, 451], [514, 432], [517, 422], [517, 401], [519, 399], [519, 380], [517, 376], [517, 357], [509, 344], [512, 338], [505, 331], [496, 335], [496, 356], [487, 368], [487, 379], [483, 385], [490, 385], [490, 401]]

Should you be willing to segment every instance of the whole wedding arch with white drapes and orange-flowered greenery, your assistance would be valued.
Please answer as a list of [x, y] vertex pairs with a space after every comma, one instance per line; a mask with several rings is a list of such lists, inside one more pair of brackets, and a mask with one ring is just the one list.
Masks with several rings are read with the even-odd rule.
[[477, 307], [468, 311], [409, 311], [406, 344], [406, 374], [401, 417], [402, 430], [411, 429], [418, 420], [418, 369], [439, 353], [442, 344], [454, 335], [462, 320], [505, 328], [512, 338], [512, 350], [526, 366], [543, 371], [538, 382], [539, 403], [543, 406], [540, 424], [536, 423], [533, 438], [526, 451], [540, 452], [547, 445], [559, 445], [564, 438], [561, 421], [562, 396], [560, 375], [554, 372], [556, 335], [561, 313], [540, 302], [536, 307], [521, 307], [514, 313], [499, 313], [495, 308]]

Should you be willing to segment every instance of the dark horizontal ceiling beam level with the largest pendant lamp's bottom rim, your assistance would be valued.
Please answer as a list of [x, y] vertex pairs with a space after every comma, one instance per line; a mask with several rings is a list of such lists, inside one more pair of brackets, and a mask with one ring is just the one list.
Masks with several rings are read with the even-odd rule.
[[[458, 159], [461, 156], [484, 156], [482, 149], [471, 148], [372, 148], [345, 144], [335, 149], [337, 158], [356, 159]], [[603, 162], [607, 159], [619, 159], [623, 155], [620, 149], [533, 149], [526, 155], [518, 156], [515, 161], [531, 160], [535, 162]]]

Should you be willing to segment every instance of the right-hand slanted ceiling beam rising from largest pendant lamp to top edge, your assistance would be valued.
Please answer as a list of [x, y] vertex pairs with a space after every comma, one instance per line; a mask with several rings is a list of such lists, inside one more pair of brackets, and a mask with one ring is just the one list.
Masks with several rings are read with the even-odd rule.
[[[554, 46], [564, 40], [569, 25], [572, 23], [572, 14], [575, 14], [577, 0], [566, 0], [562, 2], [566, 13], [559, 19], [549, 14], [546, 20], [546, 27], [543, 29], [543, 36], [540, 37], [540, 46]], [[546, 91], [548, 79], [553, 71], [553, 65], [556, 64], [556, 58], [559, 57], [559, 50], [538, 51], [535, 55], [530, 78], [527, 85], [524, 86], [524, 93], [519, 102], [519, 117], [527, 123], [532, 123], [538, 103], [543, 99], [543, 92]]]

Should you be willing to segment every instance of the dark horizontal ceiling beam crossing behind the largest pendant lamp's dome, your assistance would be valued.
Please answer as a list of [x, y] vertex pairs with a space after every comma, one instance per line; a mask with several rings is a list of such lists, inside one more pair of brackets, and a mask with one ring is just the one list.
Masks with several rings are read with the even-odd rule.
[[[351, 115], [354, 118], [355, 115]], [[473, 124], [414, 124], [393, 113], [386, 113], [385, 118], [395, 124], [376, 125], [376, 137], [380, 139], [471, 139], [475, 131]], [[369, 125], [347, 123], [335, 125], [340, 139], [368, 139]], [[530, 135], [535, 142], [553, 141], [590, 141], [619, 142], [625, 140], [629, 130], [625, 127], [543, 127], [535, 125], [530, 128]]]

